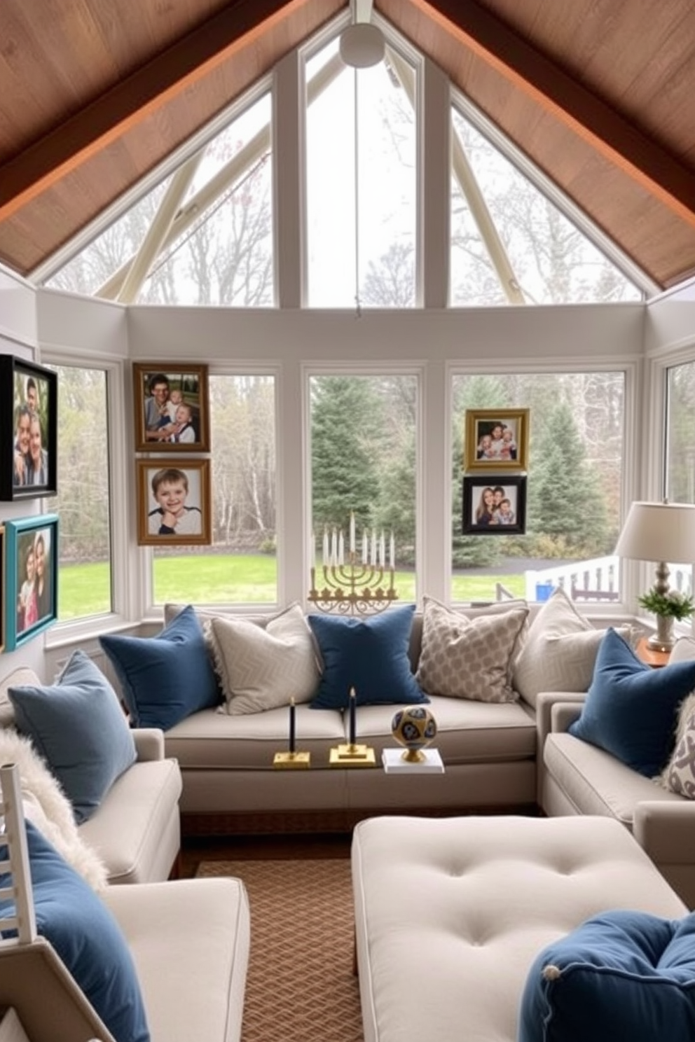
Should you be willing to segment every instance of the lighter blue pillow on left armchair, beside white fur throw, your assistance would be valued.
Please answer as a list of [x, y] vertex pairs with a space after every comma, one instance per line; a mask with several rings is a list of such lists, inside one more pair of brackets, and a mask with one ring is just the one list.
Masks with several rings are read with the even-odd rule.
[[17, 729], [31, 739], [72, 803], [91, 818], [117, 777], [135, 762], [118, 695], [84, 651], [74, 651], [53, 685], [8, 689]]

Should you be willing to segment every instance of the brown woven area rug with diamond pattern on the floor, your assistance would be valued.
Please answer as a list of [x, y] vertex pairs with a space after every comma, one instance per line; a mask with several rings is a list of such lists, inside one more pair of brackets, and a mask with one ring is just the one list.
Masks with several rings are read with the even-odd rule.
[[242, 1042], [363, 1042], [349, 859], [203, 862], [244, 880], [251, 957]]

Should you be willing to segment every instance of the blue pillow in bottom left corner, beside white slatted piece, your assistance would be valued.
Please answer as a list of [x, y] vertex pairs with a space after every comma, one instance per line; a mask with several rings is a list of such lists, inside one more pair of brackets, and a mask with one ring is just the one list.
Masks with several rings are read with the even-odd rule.
[[[117, 920], [30, 821], [26, 836], [38, 933], [51, 943], [114, 1038], [149, 1042], [140, 983]], [[8, 883], [8, 875], [0, 876], [0, 887]], [[2, 919], [14, 914], [14, 900], [0, 900], [0, 929]]]

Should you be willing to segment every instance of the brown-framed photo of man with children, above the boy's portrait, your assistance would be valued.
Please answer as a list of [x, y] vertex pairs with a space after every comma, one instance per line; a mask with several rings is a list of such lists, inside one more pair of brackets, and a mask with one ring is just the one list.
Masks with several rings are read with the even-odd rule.
[[136, 452], [209, 452], [207, 366], [134, 363]]

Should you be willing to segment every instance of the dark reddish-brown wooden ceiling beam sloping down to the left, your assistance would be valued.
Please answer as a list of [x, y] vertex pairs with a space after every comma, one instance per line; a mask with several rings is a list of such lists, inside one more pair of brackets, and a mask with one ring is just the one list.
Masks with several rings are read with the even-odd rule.
[[238, 0], [0, 167], [0, 220], [34, 199], [308, 0]]

